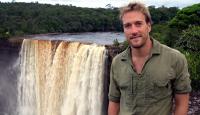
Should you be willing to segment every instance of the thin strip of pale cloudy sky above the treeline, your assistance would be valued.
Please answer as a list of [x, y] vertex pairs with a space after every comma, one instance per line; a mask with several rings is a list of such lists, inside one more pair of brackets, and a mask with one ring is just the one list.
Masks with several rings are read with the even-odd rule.
[[[1, 2], [12, 2], [13, 0], [0, 0]], [[77, 7], [89, 7], [89, 8], [105, 8], [107, 4], [111, 4], [114, 7], [121, 7], [128, 4], [133, 0], [15, 0], [16, 2], [38, 2], [47, 4], [61, 4], [61, 5], [73, 5]], [[200, 3], [200, 0], [134, 0], [139, 1], [147, 6], [154, 5], [160, 7], [162, 5], [166, 7], [179, 7], [183, 8], [195, 3]]]

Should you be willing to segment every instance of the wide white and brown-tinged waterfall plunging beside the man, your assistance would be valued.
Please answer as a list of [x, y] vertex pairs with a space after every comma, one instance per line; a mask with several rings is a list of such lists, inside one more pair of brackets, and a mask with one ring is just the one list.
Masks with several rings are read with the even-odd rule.
[[20, 56], [18, 115], [104, 114], [104, 46], [25, 39]]

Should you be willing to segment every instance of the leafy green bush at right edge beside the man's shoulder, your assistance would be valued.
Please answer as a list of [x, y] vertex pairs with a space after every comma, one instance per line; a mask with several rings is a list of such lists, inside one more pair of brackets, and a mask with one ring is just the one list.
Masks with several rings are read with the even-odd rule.
[[176, 47], [186, 56], [189, 72], [192, 79], [192, 87], [199, 90], [200, 87], [200, 26], [189, 26], [184, 30]]

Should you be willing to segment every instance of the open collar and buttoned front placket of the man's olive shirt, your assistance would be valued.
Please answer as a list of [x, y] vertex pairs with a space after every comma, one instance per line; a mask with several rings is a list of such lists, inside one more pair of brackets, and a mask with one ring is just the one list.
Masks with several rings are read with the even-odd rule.
[[127, 49], [129, 50], [129, 52], [127, 51], [128, 54], [126, 54], [126, 56], [124, 55], [124, 59], [122, 59], [124, 62], [126, 62], [129, 66], [131, 66], [131, 71], [130, 73], [132, 74], [132, 81], [131, 81], [131, 93], [135, 96], [135, 100], [136, 100], [136, 103], [135, 103], [135, 107], [136, 108], [133, 108], [133, 109], [136, 109], [136, 114], [142, 114], [142, 112], [144, 111], [143, 110], [143, 107], [145, 106], [146, 102], [145, 102], [145, 83], [146, 83], [146, 77], [149, 77], [149, 76], [145, 76], [145, 71], [146, 69], [148, 68], [148, 64], [150, 63], [151, 59], [156, 55], [156, 54], [159, 54], [158, 49], [152, 49], [151, 52], [150, 52], [150, 55], [148, 56], [147, 60], [145, 61], [144, 65], [143, 65], [143, 68], [142, 68], [142, 71], [140, 74], [138, 74], [135, 69], [134, 69], [134, 66], [132, 64], [132, 61], [131, 61], [131, 54], [130, 54], [130, 49]]

